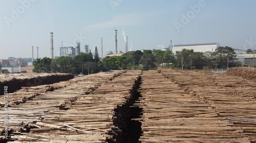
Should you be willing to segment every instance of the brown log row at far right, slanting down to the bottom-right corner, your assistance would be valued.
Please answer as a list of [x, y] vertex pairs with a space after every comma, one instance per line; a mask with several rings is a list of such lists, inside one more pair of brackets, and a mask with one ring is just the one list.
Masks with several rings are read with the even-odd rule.
[[230, 127], [239, 127], [251, 142], [256, 140], [256, 124], [252, 122], [256, 119], [255, 82], [205, 71], [161, 72], [219, 112], [219, 116], [228, 121]]

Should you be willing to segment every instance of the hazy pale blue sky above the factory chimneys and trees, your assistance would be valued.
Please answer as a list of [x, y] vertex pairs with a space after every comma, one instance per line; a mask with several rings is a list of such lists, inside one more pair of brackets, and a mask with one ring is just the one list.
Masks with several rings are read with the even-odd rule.
[[[59, 47], [89, 44], [101, 56], [129, 50], [161, 49], [173, 45], [220, 43], [256, 49], [254, 0], [0, 0], [0, 59], [54, 56]], [[63, 41], [63, 42], [61, 42]], [[255, 41], [255, 42], [254, 42]], [[246, 45], [247, 43], [247, 45]], [[34, 48], [36, 58], [36, 48]]]

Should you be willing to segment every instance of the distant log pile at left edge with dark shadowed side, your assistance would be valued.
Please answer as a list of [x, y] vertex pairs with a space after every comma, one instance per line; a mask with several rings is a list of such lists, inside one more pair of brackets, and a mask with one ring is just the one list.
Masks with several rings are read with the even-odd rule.
[[[52, 84], [72, 78], [74, 78], [74, 75], [62, 73], [0, 74], [0, 89], [4, 89], [4, 86], [8, 86], [8, 92], [13, 93], [22, 87]], [[3, 90], [0, 90], [0, 95], [4, 95]]]

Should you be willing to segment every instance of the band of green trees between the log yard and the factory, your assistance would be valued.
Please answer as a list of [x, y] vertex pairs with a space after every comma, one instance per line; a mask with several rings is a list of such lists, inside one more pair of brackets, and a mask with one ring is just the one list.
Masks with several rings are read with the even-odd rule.
[[157, 68], [176, 69], [208, 69], [242, 66], [242, 63], [234, 63], [236, 53], [231, 47], [219, 47], [215, 52], [195, 52], [193, 49], [183, 49], [174, 54], [170, 50], [136, 50], [126, 52], [121, 56], [106, 56], [101, 61], [95, 49], [93, 56], [90, 53], [81, 53], [75, 58], [61, 56], [58, 59], [37, 59], [34, 72], [60, 72], [60, 73], [97, 73], [99, 71], [129, 69], [129, 70], [154, 70]]

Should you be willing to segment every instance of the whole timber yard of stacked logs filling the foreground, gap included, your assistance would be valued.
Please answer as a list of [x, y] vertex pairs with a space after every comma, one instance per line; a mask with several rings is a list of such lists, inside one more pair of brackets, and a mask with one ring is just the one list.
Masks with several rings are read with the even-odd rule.
[[[9, 93], [8, 129], [1, 118], [0, 142], [256, 141], [254, 69], [48, 76], [59, 78]], [[14, 82], [5, 78], [1, 84]], [[4, 101], [0, 105], [4, 112]]]

